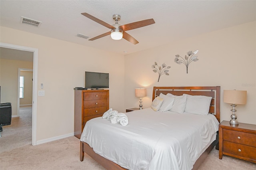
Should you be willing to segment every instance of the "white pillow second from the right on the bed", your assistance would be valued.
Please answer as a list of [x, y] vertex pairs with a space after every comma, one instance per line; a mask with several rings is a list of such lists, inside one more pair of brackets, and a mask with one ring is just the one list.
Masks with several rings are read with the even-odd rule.
[[183, 113], [186, 106], [186, 96], [176, 96], [171, 93], [167, 93], [167, 96], [174, 98], [172, 109], [170, 109], [170, 111]]

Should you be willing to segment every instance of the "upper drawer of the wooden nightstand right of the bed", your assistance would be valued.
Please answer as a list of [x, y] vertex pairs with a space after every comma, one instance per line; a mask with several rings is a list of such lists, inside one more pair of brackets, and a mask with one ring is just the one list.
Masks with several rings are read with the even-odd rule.
[[256, 134], [223, 129], [223, 140], [256, 147]]

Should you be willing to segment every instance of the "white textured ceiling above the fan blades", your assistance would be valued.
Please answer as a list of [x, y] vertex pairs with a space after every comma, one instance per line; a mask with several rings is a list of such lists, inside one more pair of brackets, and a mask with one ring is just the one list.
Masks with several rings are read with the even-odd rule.
[[[134, 45], [110, 36], [88, 39], [110, 31], [81, 13], [112, 25], [153, 18], [156, 24], [127, 31]], [[39, 28], [20, 24], [20, 17], [42, 22]], [[256, 20], [255, 0], [0, 0], [0, 25], [97, 49], [125, 54], [156, 47], [178, 39], [212, 32]], [[84, 34], [90, 38], [79, 38]]]

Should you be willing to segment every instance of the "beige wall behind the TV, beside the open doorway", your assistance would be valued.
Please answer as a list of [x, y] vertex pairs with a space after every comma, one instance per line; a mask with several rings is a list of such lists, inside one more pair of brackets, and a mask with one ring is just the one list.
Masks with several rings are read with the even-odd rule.
[[0, 31], [2, 43], [38, 49], [37, 88], [45, 96], [37, 97], [37, 141], [74, 133], [73, 88], [84, 87], [84, 71], [109, 73], [110, 107], [125, 111], [123, 55], [6, 27]]

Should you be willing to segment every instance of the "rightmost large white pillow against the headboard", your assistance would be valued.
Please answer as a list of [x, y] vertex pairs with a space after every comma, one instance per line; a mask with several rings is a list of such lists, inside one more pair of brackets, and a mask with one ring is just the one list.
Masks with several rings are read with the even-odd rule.
[[185, 112], [198, 114], [198, 115], [208, 115], [212, 97], [208, 96], [192, 96], [183, 94], [187, 97]]

